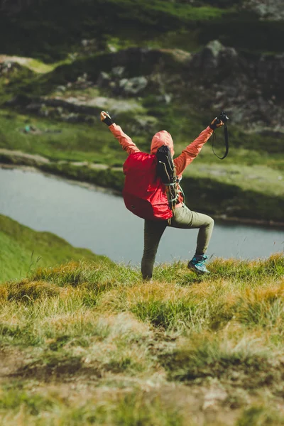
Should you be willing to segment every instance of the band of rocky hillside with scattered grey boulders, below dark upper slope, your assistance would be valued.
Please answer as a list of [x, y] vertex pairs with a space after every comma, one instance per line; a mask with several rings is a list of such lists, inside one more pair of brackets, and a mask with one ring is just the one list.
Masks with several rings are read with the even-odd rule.
[[240, 53], [218, 40], [197, 53], [164, 48], [99, 53], [43, 77], [13, 60], [2, 62], [0, 72], [9, 80], [4, 106], [40, 116], [92, 123], [102, 108], [120, 115], [132, 111], [139, 130], [163, 118], [167, 105], [200, 118], [225, 108], [230, 123], [242, 130], [276, 137], [284, 130], [284, 55]]

